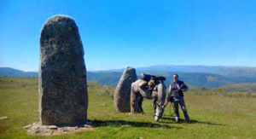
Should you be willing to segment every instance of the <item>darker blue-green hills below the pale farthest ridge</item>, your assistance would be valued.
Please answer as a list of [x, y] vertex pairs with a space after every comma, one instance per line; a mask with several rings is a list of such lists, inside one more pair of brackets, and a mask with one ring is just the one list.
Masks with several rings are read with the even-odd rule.
[[[122, 72], [102, 71], [102, 72], [87, 72], [87, 79], [96, 81], [100, 84], [110, 84], [115, 87]], [[220, 87], [225, 84], [247, 84], [256, 83], [256, 77], [226, 77], [216, 73], [206, 72], [167, 72], [155, 69], [137, 70], [139, 76], [142, 72], [165, 76], [166, 85], [169, 85], [172, 81], [172, 75], [177, 73], [181, 80], [187, 84], [201, 87]], [[3, 77], [26, 77], [26, 78], [38, 78], [38, 72], [23, 72], [8, 67], [0, 67], [0, 76]]]

